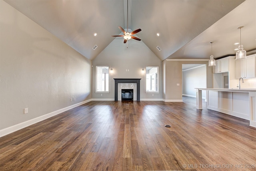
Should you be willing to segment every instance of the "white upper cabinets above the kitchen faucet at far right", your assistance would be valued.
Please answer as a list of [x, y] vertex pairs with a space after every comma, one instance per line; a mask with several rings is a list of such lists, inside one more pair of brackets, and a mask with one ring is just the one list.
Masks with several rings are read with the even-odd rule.
[[244, 60], [236, 60], [236, 79], [256, 78], [256, 55], [247, 56]]

